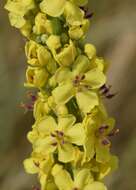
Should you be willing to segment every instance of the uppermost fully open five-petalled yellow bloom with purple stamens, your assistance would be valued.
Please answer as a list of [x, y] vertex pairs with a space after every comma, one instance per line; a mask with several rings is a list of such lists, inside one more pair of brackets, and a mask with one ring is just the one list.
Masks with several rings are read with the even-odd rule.
[[58, 86], [52, 94], [57, 104], [66, 104], [72, 97], [76, 97], [77, 104], [83, 113], [90, 112], [99, 104], [97, 90], [106, 82], [101, 70], [89, 70], [89, 59], [80, 55], [76, 59], [72, 71], [61, 67], [55, 74]]

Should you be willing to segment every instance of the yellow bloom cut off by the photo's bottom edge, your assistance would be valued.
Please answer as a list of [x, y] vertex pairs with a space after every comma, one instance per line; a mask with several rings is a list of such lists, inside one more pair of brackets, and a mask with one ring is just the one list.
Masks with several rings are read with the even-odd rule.
[[52, 170], [55, 183], [59, 190], [107, 190], [105, 185], [99, 181], [94, 181], [89, 169], [81, 169], [74, 173], [74, 179], [56, 164]]

